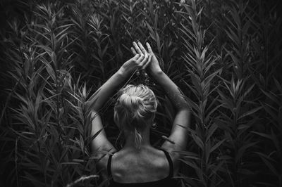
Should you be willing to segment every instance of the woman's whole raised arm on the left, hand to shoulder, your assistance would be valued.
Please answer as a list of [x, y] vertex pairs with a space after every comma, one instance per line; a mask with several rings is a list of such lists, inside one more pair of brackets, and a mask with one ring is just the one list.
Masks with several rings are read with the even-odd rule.
[[[96, 136], [91, 143], [92, 152], [96, 152], [97, 150], [114, 152], [116, 150], [106, 138], [99, 112], [106, 101], [114, 95], [115, 91], [121, 86], [125, 79], [127, 79], [137, 68], [146, 65], [148, 60], [150, 60], [149, 56], [141, 56], [137, 54], [126, 61], [87, 101], [87, 108], [91, 110], [92, 116], [91, 136]], [[103, 154], [98, 153], [98, 155], [102, 156]]]

